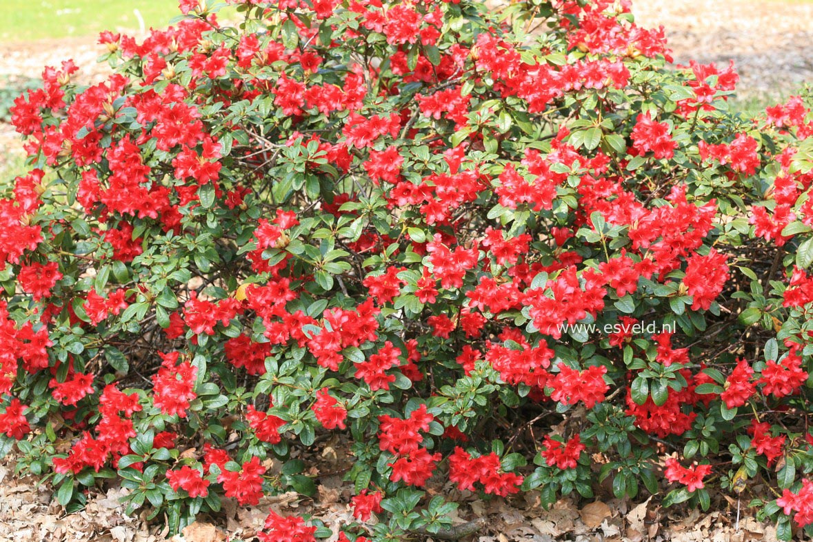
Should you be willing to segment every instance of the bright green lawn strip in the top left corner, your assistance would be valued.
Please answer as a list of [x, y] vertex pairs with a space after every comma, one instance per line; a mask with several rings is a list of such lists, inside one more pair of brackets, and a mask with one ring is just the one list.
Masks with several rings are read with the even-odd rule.
[[177, 0], [2, 0], [0, 41], [95, 37], [102, 30], [166, 27], [180, 15]]

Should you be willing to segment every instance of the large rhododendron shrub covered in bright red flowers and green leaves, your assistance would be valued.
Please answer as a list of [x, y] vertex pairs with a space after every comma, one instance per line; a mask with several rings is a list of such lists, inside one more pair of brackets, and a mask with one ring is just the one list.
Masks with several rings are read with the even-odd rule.
[[15, 102], [20, 470], [173, 530], [312, 494], [328, 445], [341, 540], [441, 531], [467, 492], [813, 522], [805, 97], [731, 113], [733, 66], [672, 65], [628, 2], [228, 3], [103, 33], [107, 80], [66, 62]]

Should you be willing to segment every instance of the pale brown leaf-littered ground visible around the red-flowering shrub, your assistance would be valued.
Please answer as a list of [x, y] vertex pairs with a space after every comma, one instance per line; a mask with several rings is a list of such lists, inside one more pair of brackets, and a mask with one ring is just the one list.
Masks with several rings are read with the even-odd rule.
[[[805, 81], [813, 81], [813, 3], [758, 0], [638, 0], [633, 12], [645, 26], [663, 24], [675, 53], [676, 62], [696, 59], [702, 63], [727, 64], [733, 59], [741, 76], [739, 103], [742, 109], [761, 109], [797, 92]], [[106, 72], [95, 59], [101, 50], [93, 38], [28, 41], [0, 44], [0, 81], [37, 77], [45, 65], [58, 66], [72, 57], [85, 80], [101, 78]], [[22, 167], [20, 144], [14, 132], [0, 124], [0, 175], [7, 179]], [[336, 446], [336, 450], [341, 449]], [[337, 451], [320, 458], [319, 463], [341, 462]], [[327, 450], [325, 450], [327, 452]], [[341, 455], [341, 453], [338, 453]], [[325, 455], [323, 453], [323, 455]], [[335, 470], [324, 465], [326, 470]], [[314, 472], [318, 475], [318, 472]], [[174, 542], [256, 540], [267, 509], [285, 514], [312, 513], [328, 526], [350, 521], [346, 503], [350, 488], [337, 476], [317, 477], [319, 495], [315, 500], [286, 494], [266, 499], [257, 507], [238, 509], [224, 502], [226, 513], [205, 519], [176, 535]], [[446, 492], [448, 488], [436, 488]], [[120, 489], [89, 496], [88, 505], [76, 514], [65, 514], [51, 501], [47, 484], [13, 475], [13, 459], [0, 463], [0, 542], [158, 542], [167, 540], [159, 527], [142, 517], [128, 517], [118, 504]], [[528, 540], [675, 540], [693, 542], [745, 542], [776, 540], [772, 526], [760, 524], [749, 509], [729, 496], [715, 502], [711, 514], [675, 517], [664, 513], [651, 501], [632, 505], [613, 499], [576, 506], [567, 499], [554, 509], [541, 509], [533, 494], [520, 501], [479, 501], [470, 494], [455, 495], [462, 503], [459, 522], [488, 518], [488, 527], [470, 540], [512, 542]], [[657, 499], [655, 499], [657, 501]], [[740, 518], [737, 521], [737, 508]], [[426, 539], [426, 540], [432, 540]]]

